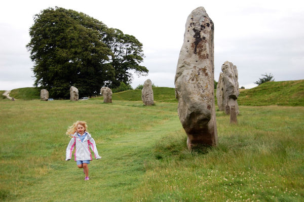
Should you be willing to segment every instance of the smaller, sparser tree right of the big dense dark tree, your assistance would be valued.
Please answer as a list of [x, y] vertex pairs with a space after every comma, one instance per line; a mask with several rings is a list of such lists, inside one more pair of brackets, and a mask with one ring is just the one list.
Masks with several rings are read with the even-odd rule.
[[111, 87], [117, 88], [121, 82], [130, 85], [134, 70], [137, 75], [146, 75], [148, 69], [139, 64], [143, 61], [142, 44], [132, 35], [124, 34], [119, 29], [109, 28], [105, 43], [111, 49], [110, 64], [115, 69], [115, 80]]

